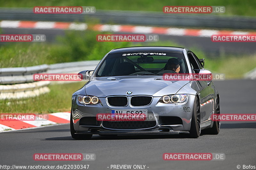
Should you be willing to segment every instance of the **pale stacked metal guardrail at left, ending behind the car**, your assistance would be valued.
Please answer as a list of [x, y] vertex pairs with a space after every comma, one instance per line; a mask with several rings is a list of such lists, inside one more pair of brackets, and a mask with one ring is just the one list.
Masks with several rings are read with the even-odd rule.
[[92, 60], [31, 67], [0, 68], [0, 84], [3, 84], [0, 85], [0, 100], [35, 97], [50, 92], [47, 86], [51, 82], [33, 82], [33, 74], [35, 73], [78, 73], [83, 70], [94, 70], [98, 63], [99, 60]]

